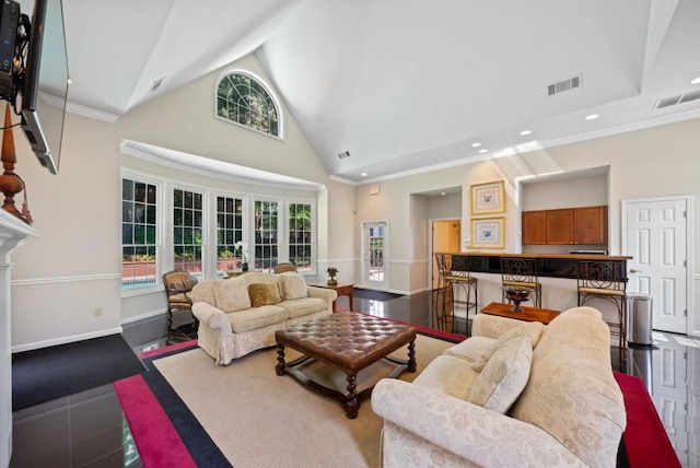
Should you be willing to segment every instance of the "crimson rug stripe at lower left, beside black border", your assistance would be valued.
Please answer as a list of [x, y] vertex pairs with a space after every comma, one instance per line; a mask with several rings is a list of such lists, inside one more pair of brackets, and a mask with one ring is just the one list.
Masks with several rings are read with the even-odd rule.
[[117, 381], [114, 387], [145, 468], [197, 467], [142, 376]]

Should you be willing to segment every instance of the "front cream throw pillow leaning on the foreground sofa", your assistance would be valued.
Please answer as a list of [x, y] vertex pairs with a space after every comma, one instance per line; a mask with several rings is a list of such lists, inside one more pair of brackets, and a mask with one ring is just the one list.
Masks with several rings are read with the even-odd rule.
[[529, 337], [505, 342], [477, 377], [467, 401], [505, 414], [527, 385], [532, 362], [533, 342]]

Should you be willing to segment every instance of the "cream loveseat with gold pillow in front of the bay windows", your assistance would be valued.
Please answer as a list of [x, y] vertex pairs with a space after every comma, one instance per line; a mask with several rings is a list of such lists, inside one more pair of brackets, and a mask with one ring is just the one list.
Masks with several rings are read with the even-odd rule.
[[189, 293], [198, 344], [217, 364], [275, 346], [275, 331], [332, 313], [334, 290], [306, 285], [296, 272], [252, 271], [201, 281]]

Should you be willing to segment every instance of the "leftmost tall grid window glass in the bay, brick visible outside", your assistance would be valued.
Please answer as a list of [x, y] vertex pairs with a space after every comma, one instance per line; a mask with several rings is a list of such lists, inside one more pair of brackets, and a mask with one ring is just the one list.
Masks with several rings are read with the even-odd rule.
[[121, 289], [158, 284], [156, 186], [121, 179]]

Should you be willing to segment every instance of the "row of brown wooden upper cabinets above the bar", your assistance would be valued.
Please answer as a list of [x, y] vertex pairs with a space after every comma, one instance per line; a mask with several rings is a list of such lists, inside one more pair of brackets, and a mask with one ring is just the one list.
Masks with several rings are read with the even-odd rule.
[[523, 211], [523, 245], [606, 245], [607, 207]]

